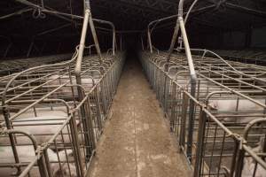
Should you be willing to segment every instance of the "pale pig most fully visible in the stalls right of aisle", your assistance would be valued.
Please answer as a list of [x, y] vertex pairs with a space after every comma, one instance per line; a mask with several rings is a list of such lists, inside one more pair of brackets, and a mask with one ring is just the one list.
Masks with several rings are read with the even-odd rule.
[[[261, 104], [265, 104], [265, 99], [255, 99], [257, 102]], [[226, 115], [226, 112], [235, 112], [237, 108], [237, 99], [230, 99], [230, 100], [209, 100], [208, 107], [210, 109], [214, 109], [218, 112], [224, 112], [218, 113], [216, 115], [222, 116], [222, 118], [218, 118], [220, 121], [224, 122], [235, 122], [235, 123], [248, 123], [253, 119], [258, 119], [259, 115], [262, 115], [264, 108], [258, 104], [254, 104], [250, 100], [247, 99], [239, 99], [239, 106], [238, 106], [238, 112], [254, 112], [254, 113], [245, 113], [246, 117], [224, 117], [223, 115]]]

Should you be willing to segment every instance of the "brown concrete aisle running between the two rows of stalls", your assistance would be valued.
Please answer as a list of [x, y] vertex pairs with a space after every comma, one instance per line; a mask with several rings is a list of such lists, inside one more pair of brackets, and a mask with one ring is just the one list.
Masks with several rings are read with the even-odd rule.
[[159, 102], [137, 61], [128, 61], [91, 165], [92, 177], [187, 177]]

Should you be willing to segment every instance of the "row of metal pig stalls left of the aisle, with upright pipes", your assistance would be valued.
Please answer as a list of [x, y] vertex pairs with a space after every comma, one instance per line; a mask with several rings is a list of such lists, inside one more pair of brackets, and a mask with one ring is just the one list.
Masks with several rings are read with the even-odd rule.
[[[73, 56], [23, 59], [32, 65], [0, 77], [0, 176], [84, 177], [89, 172], [124, 54], [115, 49], [113, 24], [92, 19], [90, 2], [85, 3], [84, 17], [78, 16], [83, 19], [81, 41]], [[93, 21], [112, 26], [113, 48], [106, 53], [101, 53]], [[87, 31], [94, 40], [88, 47]], [[92, 46], [97, 55], [85, 55]]]

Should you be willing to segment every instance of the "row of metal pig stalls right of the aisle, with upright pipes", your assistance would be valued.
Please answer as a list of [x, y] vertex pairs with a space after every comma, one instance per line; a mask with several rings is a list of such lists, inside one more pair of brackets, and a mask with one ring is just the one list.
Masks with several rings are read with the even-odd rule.
[[[266, 67], [191, 49], [185, 22], [197, 2], [183, 13], [180, 0], [177, 15], [149, 24], [148, 50], [143, 46], [141, 52], [145, 75], [194, 177], [264, 177]], [[168, 51], [160, 51], [153, 46], [153, 31], [169, 19], [176, 19], [176, 27]], [[220, 51], [228, 58], [230, 53], [238, 52]]]

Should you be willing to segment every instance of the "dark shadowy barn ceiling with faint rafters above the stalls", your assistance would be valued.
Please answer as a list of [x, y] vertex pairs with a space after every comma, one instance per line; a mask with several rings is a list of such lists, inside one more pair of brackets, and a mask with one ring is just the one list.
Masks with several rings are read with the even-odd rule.
[[[42, 0], [28, 0], [28, 2], [42, 5]], [[43, 0], [43, 4], [48, 10], [80, 16], [83, 14], [82, 0]], [[184, 12], [191, 4], [192, 0], [185, 0]], [[175, 15], [178, 1], [90, 0], [90, 6], [93, 18], [112, 21], [120, 31], [144, 31], [152, 20]], [[190, 34], [215, 33], [221, 30], [245, 31], [250, 27], [263, 27], [266, 24], [266, 1], [264, 0], [199, 0], [194, 10], [206, 6], [210, 8], [192, 12], [187, 26]], [[13, 12], [17, 13], [14, 15]], [[34, 36], [37, 36], [40, 40], [63, 39], [67, 42], [68, 39], [72, 39], [73, 42], [78, 42], [81, 19], [47, 13], [45, 17], [37, 17], [37, 14], [37, 9], [32, 9], [16, 0], [0, 1], [0, 35], [8, 37], [9, 40], [21, 38], [31, 41]], [[170, 29], [173, 29], [175, 21], [176, 19], [172, 19], [161, 24], [159, 31], [171, 32]], [[100, 25], [97, 24], [97, 26]], [[52, 29], [50, 33], [43, 33], [50, 29]]]

